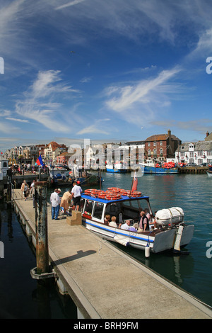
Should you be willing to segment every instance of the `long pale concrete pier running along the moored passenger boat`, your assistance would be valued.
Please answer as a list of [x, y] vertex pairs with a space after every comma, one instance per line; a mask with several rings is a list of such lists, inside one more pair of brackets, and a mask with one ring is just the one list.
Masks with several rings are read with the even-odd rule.
[[[33, 199], [13, 194], [14, 209], [35, 242]], [[49, 264], [62, 293], [69, 293], [79, 318], [210, 319], [211, 308], [166, 281], [83, 225], [64, 216], [52, 220], [48, 205]], [[34, 240], [33, 240], [34, 239]]]

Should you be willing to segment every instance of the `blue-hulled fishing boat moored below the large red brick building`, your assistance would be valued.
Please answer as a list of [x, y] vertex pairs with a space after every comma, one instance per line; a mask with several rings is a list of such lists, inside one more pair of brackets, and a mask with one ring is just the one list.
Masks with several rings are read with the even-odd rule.
[[144, 174], [178, 174], [178, 168], [173, 162], [158, 164], [151, 161], [140, 163], [141, 171]]

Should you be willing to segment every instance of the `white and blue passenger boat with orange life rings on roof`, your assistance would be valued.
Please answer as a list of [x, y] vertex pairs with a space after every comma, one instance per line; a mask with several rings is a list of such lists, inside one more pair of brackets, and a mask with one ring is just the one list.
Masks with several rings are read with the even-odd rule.
[[[151, 225], [151, 230], [132, 229], [134, 222], [139, 222], [141, 218], [142, 208], [148, 208], [152, 215], [149, 197], [143, 196], [139, 191], [131, 192], [119, 188], [108, 188], [107, 191], [88, 189], [81, 197], [83, 225], [102, 238], [144, 250], [145, 254], [170, 249], [181, 252], [181, 247], [189, 244], [194, 225], [184, 223], [182, 208], [170, 208], [165, 212], [159, 210], [158, 216], [155, 215], [157, 227]], [[115, 227], [105, 225], [106, 215], [116, 217]], [[126, 221], [130, 221], [129, 230], [122, 229]]]

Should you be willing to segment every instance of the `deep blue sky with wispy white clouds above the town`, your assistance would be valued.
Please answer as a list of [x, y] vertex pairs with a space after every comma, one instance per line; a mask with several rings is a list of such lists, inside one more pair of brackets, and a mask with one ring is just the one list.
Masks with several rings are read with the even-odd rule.
[[1, 0], [0, 150], [204, 140], [211, 13], [210, 0]]

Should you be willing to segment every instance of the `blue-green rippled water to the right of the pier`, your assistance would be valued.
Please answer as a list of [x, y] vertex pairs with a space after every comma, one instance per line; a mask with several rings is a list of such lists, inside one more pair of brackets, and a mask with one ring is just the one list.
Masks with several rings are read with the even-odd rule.
[[[131, 186], [131, 174], [103, 174], [103, 178], [104, 189]], [[212, 258], [206, 256], [206, 243], [212, 241], [212, 179], [207, 174], [144, 174], [139, 178], [138, 190], [150, 197], [153, 212], [161, 208], [181, 207], [185, 222], [194, 223], [194, 237], [184, 249], [189, 255], [173, 256], [164, 252], [151, 254], [146, 259], [139, 250], [125, 248], [125, 251], [212, 306]]]

